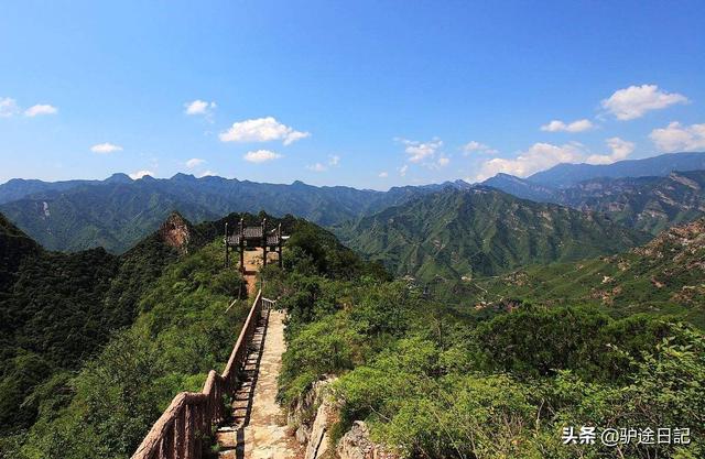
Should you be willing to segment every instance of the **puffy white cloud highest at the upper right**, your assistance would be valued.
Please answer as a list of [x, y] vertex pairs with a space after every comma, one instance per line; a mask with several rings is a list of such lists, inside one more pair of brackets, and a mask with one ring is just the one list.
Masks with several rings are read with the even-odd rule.
[[687, 98], [681, 94], [662, 91], [657, 85], [641, 85], [619, 89], [601, 103], [618, 120], [626, 121], [640, 118], [651, 110], [687, 102]]

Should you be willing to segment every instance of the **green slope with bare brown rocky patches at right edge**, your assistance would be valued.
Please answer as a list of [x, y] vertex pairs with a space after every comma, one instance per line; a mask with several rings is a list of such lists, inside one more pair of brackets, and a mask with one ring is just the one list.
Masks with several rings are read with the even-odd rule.
[[459, 296], [480, 308], [508, 299], [589, 305], [616, 315], [676, 314], [705, 328], [705, 219], [673, 227], [617, 255], [463, 284]]

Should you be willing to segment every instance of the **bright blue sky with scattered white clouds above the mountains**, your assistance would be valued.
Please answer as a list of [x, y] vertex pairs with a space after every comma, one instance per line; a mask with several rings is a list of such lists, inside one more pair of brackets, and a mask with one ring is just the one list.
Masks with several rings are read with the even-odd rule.
[[705, 151], [703, 1], [0, 6], [0, 183], [387, 189]]

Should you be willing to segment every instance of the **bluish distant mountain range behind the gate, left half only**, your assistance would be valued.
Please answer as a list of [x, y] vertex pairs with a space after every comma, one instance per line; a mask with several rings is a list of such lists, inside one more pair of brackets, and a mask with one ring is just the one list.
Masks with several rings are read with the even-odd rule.
[[6, 189], [8, 196], [23, 196], [0, 205], [0, 211], [50, 250], [102, 247], [112, 253], [126, 251], [155, 231], [174, 210], [194, 222], [234, 211], [263, 210], [330, 225], [435, 189], [400, 187], [382, 193], [341, 186], [315, 187], [301, 182], [275, 185], [221, 177], [195, 178], [184, 174], [169, 179], [148, 176], [131, 181], [127, 176], [113, 176], [98, 183], [41, 184], [30, 183], [26, 195], [22, 195], [15, 182], [0, 185], [0, 192], [13, 185]]

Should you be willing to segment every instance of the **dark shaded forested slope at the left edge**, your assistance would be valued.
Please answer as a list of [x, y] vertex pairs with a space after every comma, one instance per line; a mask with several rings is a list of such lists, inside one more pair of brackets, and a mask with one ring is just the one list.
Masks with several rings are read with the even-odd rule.
[[[181, 216], [167, 222], [187, 227]], [[0, 426], [26, 426], [26, 397], [132, 324], [139, 298], [181, 253], [152, 234], [121, 256], [104, 249], [50, 252], [0, 215]], [[25, 403], [26, 402], [26, 403]]]

